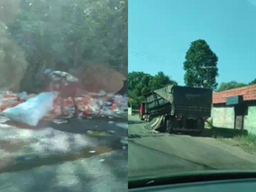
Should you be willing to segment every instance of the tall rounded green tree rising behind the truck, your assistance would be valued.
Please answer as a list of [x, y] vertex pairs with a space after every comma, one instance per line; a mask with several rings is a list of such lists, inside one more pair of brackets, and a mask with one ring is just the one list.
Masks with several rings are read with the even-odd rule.
[[184, 82], [190, 87], [203, 87], [215, 90], [218, 86], [218, 57], [205, 40], [199, 39], [190, 44], [185, 57]]

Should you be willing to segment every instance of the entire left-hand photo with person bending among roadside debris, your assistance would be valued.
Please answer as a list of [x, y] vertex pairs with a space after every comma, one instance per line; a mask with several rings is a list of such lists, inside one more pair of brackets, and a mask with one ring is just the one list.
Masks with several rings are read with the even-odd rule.
[[125, 191], [127, 71], [128, 0], [0, 0], [0, 191]]

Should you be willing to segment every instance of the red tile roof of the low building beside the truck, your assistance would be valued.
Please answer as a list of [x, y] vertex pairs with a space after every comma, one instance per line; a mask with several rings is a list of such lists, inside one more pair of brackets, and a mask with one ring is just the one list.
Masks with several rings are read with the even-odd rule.
[[233, 97], [237, 95], [242, 95], [244, 101], [256, 100], [256, 85], [250, 85], [246, 87], [230, 89], [228, 91], [223, 91], [219, 93], [213, 93], [212, 103], [226, 103], [227, 97]]

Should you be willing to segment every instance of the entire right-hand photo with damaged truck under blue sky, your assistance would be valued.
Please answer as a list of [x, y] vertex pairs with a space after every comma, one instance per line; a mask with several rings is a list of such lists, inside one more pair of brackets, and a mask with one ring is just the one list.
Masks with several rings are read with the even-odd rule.
[[128, 7], [128, 191], [255, 191], [256, 0]]

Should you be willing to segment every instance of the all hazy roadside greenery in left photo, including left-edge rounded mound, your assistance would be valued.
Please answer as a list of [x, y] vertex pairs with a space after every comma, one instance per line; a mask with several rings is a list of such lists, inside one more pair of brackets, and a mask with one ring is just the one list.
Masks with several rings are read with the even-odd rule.
[[83, 84], [96, 64], [127, 77], [128, 0], [1, 0], [0, 8], [0, 89], [41, 91], [45, 68]]

